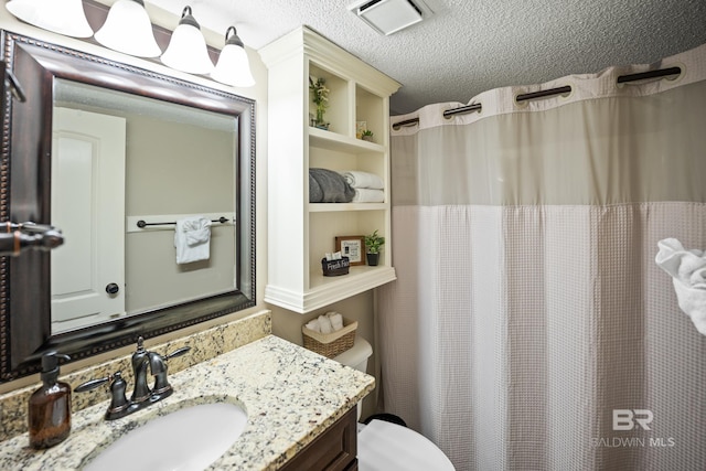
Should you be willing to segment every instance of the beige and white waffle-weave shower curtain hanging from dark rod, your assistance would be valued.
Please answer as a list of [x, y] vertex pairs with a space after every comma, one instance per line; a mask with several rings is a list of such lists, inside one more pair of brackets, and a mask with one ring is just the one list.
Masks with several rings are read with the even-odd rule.
[[706, 248], [706, 45], [470, 104], [393, 119], [385, 411], [459, 471], [706, 470], [706, 339], [654, 263]]

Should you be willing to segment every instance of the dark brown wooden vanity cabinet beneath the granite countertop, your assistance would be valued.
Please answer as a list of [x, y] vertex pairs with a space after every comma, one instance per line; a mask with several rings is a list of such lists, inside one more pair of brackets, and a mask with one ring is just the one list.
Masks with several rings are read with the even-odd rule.
[[280, 470], [354, 471], [357, 470], [356, 456], [357, 414], [353, 407]]

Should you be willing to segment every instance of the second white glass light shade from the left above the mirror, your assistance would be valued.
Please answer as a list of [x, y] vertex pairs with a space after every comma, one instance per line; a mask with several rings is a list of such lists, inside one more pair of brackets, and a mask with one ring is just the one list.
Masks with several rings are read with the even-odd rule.
[[139, 0], [115, 2], [94, 38], [106, 47], [139, 57], [157, 57], [162, 53], [154, 40], [150, 17]]

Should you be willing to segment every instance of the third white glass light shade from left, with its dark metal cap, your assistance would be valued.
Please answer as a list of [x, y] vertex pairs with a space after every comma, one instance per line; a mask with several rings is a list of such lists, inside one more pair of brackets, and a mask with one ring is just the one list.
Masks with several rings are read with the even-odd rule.
[[179, 25], [162, 54], [162, 62], [171, 68], [190, 74], [210, 74], [213, 71], [206, 40], [191, 14], [191, 7], [185, 7], [182, 11]]

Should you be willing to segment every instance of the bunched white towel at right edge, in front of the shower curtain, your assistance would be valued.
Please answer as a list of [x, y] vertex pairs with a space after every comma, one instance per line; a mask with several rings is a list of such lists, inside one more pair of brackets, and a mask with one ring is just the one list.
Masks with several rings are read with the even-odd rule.
[[657, 243], [660, 251], [654, 261], [667, 274], [682, 311], [706, 335], [706, 254], [699, 249], [685, 249], [675, 238]]

